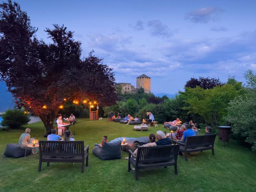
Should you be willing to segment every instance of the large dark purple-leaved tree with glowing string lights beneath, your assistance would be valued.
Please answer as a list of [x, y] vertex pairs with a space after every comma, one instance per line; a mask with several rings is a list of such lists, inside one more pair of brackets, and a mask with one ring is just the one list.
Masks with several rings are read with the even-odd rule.
[[0, 78], [18, 107], [41, 118], [45, 135], [64, 99], [115, 103], [112, 69], [93, 52], [81, 60], [81, 43], [73, 39], [73, 32], [54, 24], [45, 30], [52, 39], [46, 44], [36, 38], [37, 29], [19, 4], [8, 0], [0, 8]]

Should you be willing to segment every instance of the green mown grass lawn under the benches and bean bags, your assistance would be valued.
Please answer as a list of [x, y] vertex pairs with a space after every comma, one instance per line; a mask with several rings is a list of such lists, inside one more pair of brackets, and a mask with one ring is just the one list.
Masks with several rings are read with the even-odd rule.
[[[167, 131], [163, 127], [150, 127], [149, 131], [133, 131], [133, 126], [115, 122], [89, 121], [78, 119], [76, 140], [83, 140], [89, 148], [89, 167], [81, 173], [81, 164], [46, 163], [41, 172], [37, 172], [39, 157], [30, 155], [14, 159], [0, 155], [0, 191], [255, 191], [256, 188], [256, 153], [231, 140], [223, 147], [217, 138], [215, 156], [211, 150], [192, 153], [188, 161], [178, 157], [178, 175], [174, 167], [139, 171], [139, 181], [135, 181], [134, 172], [127, 172], [126, 152], [122, 159], [101, 161], [92, 154], [95, 143], [100, 143], [103, 135], [108, 141], [117, 137], [141, 137]], [[31, 137], [46, 140], [42, 122], [30, 124]], [[0, 153], [3, 154], [7, 143], [17, 143], [25, 128], [0, 131]], [[71, 128], [71, 126], [70, 126]], [[73, 129], [71, 128], [73, 131]]]

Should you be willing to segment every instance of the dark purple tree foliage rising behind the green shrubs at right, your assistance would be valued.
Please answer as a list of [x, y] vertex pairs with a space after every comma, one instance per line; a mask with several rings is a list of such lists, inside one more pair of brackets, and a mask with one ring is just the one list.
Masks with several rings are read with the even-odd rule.
[[191, 78], [186, 82], [185, 87], [190, 87], [190, 88], [196, 88], [197, 86], [201, 87], [202, 89], [212, 89], [218, 85], [223, 85], [219, 78], [210, 78], [210, 77], [199, 77], [197, 78]]

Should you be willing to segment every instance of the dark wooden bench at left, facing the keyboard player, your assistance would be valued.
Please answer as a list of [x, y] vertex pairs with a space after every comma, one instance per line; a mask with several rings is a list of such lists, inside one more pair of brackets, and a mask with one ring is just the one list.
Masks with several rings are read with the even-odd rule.
[[39, 141], [39, 166], [41, 171], [42, 162], [81, 162], [82, 173], [84, 161], [88, 166], [89, 145], [84, 148], [83, 141]]

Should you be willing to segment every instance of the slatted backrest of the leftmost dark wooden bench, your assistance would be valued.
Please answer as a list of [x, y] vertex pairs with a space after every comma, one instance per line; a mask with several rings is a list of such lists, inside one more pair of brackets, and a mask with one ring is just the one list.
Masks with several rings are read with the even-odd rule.
[[39, 153], [56, 157], [82, 156], [84, 154], [83, 141], [39, 141]]

